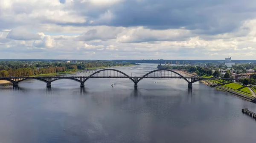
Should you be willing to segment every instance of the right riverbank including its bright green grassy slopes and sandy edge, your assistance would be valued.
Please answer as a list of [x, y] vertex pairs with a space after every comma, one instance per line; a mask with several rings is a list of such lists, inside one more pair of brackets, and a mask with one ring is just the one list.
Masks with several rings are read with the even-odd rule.
[[[174, 70], [174, 71], [179, 71], [180, 73], [183, 73], [183, 74], [186, 74], [186, 75], [189, 75], [189, 76], [196, 76], [195, 74], [189, 73], [185, 70]], [[242, 89], [244, 87], [243, 86], [238, 87], [238, 85], [237, 86], [233, 85], [235, 83], [231, 83], [232, 85], [229, 85], [229, 84], [219, 85], [219, 83], [214, 82], [214, 81], [210, 81], [210, 80], [202, 80], [202, 81], [199, 81], [199, 82], [204, 83], [209, 87], [214, 87], [217, 90], [221, 90], [221, 91], [230, 93], [232, 95], [236, 95], [236, 96], [238, 96], [240, 98], [243, 98], [247, 101], [252, 101], [254, 103], [256, 101], [256, 98], [253, 97], [253, 94], [249, 93], [250, 90], [248, 90], [249, 92], [247, 91], [247, 89], [244, 89], [244, 90], [240, 91], [238, 89], [240, 89], [240, 88]], [[236, 87], [238, 87], [238, 89]]]

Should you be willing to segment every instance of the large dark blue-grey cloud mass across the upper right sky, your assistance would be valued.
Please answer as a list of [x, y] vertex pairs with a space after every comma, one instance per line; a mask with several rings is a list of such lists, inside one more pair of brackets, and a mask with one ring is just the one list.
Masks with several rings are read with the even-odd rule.
[[[233, 31], [241, 22], [254, 18], [256, 9], [254, 0], [246, 3], [241, 0], [119, 0], [108, 5], [104, 2], [108, 0], [103, 0], [101, 5], [90, 0], [84, 0], [84, 3], [76, 0], [71, 8], [77, 8], [79, 15], [86, 15], [84, 18], [93, 22], [59, 24], [145, 26], [151, 29], [184, 27], [200, 34], [220, 34]], [[100, 18], [106, 14], [111, 16]]]

